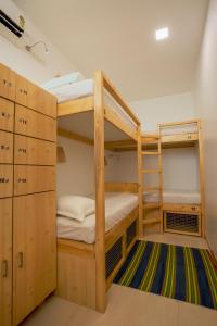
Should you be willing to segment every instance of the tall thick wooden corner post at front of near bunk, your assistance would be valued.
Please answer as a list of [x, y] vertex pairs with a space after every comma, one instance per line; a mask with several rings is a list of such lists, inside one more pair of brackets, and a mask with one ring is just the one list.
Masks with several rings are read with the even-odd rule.
[[104, 213], [104, 106], [103, 74], [94, 73], [94, 174], [95, 174], [95, 308], [106, 308]]

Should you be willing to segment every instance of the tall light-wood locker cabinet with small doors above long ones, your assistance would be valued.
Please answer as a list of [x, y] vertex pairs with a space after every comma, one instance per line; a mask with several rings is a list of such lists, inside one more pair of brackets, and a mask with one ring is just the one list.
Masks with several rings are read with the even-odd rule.
[[0, 325], [56, 286], [56, 99], [0, 64]]

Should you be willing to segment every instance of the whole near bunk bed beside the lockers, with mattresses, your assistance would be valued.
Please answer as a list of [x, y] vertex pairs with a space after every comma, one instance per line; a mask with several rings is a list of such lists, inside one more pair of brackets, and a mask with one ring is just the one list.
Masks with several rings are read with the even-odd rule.
[[68, 86], [59, 99], [58, 135], [94, 147], [95, 211], [79, 227], [58, 217], [56, 294], [104, 312], [106, 291], [138, 238], [139, 214], [138, 183], [104, 183], [104, 152], [111, 141], [123, 139], [139, 149], [140, 122], [102, 71]]

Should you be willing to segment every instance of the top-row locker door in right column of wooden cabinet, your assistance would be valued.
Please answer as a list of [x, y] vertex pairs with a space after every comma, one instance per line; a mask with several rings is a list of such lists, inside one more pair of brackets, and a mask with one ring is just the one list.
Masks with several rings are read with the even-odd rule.
[[16, 77], [16, 102], [56, 117], [56, 98], [20, 75]]

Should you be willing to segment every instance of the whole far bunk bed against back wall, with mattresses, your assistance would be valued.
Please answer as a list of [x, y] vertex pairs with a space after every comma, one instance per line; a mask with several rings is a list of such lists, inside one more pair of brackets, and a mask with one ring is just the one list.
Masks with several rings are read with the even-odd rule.
[[[162, 229], [169, 233], [204, 236], [204, 174], [203, 174], [203, 142], [202, 122], [191, 120], [184, 122], [158, 124], [158, 137], [163, 149], [176, 149], [194, 147], [199, 155], [200, 189], [197, 191], [164, 189], [162, 172], [164, 164], [159, 158], [159, 170], [162, 181], [157, 191], [143, 191], [143, 204], [146, 210], [144, 217], [146, 222], [161, 222]], [[155, 138], [155, 139], [156, 139]], [[142, 143], [145, 151], [153, 153], [156, 150], [154, 136], [143, 135]], [[176, 154], [176, 152], [175, 152]], [[158, 221], [156, 210], [161, 210]], [[149, 223], [146, 223], [149, 224]]]

